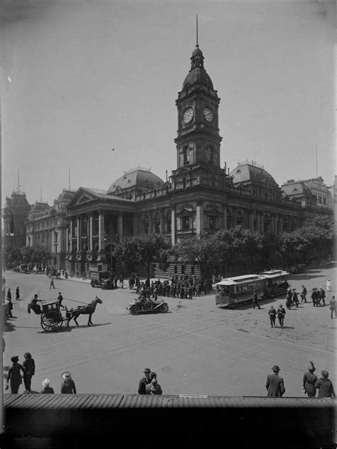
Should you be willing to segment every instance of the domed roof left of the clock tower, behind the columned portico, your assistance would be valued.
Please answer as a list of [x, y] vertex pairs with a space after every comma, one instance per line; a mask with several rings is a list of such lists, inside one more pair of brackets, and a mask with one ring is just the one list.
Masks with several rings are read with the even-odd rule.
[[164, 185], [164, 181], [159, 178], [159, 176], [151, 173], [151, 171], [145, 170], [144, 168], [135, 168], [129, 173], [124, 173], [123, 176], [110, 185], [107, 193], [114, 193], [117, 188], [125, 189], [131, 187], [137, 188], [154, 188], [154, 185]]

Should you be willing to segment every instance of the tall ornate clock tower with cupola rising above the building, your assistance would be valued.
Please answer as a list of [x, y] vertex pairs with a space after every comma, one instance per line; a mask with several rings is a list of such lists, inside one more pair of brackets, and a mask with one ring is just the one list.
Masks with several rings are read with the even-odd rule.
[[203, 52], [196, 45], [191, 56], [191, 70], [178, 93], [178, 135], [175, 139], [178, 175], [181, 169], [193, 171], [220, 169], [218, 108], [220, 98], [203, 67]]

